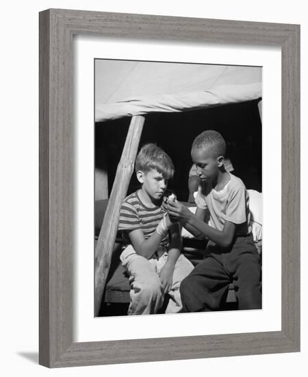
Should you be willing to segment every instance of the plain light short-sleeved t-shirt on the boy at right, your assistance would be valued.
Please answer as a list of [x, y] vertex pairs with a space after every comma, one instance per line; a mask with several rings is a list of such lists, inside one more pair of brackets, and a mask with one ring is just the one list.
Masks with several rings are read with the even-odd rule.
[[220, 191], [213, 189], [211, 182], [198, 187], [196, 206], [203, 210], [208, 209], [210, 225], [218, 230], [223, 230], [224, 223], [234, 223], [235, 235], [246, 235], [251, 232], [249, 195], [240, 178], [229, 173], [230, 180]]

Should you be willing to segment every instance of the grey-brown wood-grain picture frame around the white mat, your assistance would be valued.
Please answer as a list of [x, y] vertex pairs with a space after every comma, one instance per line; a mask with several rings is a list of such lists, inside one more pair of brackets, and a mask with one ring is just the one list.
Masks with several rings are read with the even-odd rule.
[[[281, 331], [73, 343], [73, 36], [281, 47]], [[40, 350], [47, 367], [300, 350], [300, 27], [143, 14], [40, 12]]]

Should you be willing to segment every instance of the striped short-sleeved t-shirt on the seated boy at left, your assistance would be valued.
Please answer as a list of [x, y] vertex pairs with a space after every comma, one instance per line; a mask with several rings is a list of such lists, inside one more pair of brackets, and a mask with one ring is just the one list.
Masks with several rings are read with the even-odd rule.
[[[125, 245], [131, 244], [129, 232], [131, 230], [141, 229], [144, 239], [148, 239], [155, 229], [159, 221], [164, 216], [164, 210], [161, 206], [154, 208], [146, 207], [138, 197], [138, 193], [132, 193], [126, 199], [120, 208], [120, 220], [118, 230], [122, 230], [123, 241]], [[159, 246], [168, 245], [168, 234], [159, 243]]]

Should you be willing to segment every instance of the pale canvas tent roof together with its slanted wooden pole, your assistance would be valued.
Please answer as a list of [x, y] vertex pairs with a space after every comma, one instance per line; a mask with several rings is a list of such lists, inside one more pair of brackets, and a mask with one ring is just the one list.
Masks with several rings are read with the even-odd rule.
[[131, 117], [114, 180], [116, 189], [112, 189], [95, 251], [96, 314], [110, 269], [120, 205], [133, 172], [143, 115], [200, 110], [260, 97], [261, 67], [96, 60], [95, 120]]

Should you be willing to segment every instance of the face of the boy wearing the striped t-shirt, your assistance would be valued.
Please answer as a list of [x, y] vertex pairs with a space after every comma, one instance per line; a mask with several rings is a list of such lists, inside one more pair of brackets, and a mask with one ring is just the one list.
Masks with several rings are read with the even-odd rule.
[[165, 180], [162, 173], [159, 173], [156, 169], [149, 171], [138, 171], [137, 178], [142, 183], [142, 190], [145, 191], [151, 199], [162, 199], [164, 192], [168, 186], [168, 180]]

